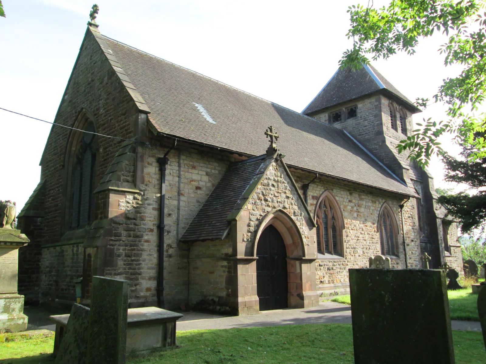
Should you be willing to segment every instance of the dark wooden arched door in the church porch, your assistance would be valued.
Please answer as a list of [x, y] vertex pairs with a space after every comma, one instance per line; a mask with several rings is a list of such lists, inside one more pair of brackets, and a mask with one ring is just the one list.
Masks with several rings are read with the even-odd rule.
[[260, 311], [287, 307], [287, 252], [282, 236], [270, 225], [257, 245], [257, 295]]

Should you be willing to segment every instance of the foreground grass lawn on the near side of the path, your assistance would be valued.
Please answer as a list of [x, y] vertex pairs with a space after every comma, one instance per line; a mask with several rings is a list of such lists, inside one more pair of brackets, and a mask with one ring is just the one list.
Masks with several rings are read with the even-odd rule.
[[[457, 364], [484, 363], [481, 332], [452, 331], [452, 335]], [[129, 357], [127, 364], [354, 363], [352, 328], [343, 324], [179, 331], [177, 344], [146, 357]], [[0, 342], [0, 360], [7, 359], [0, 363], [53, 363], [48, 355], [39, 355], [52, 351], [52, 345], [53, 337]], [[8, 359], [12, 357], [19, 359]]]

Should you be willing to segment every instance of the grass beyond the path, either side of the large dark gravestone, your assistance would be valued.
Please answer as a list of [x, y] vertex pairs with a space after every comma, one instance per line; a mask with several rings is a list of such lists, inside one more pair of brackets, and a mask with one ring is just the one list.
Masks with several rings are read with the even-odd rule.
[[[471, 293], [471, 288], [458, 289], [457, 291], [447, 291], [449, 297], [449, 310], [451, 320], [479, 321], [477, 299], [478, 295]], [[351, 304], [349, 295], [336, 296], [332, 302]]]

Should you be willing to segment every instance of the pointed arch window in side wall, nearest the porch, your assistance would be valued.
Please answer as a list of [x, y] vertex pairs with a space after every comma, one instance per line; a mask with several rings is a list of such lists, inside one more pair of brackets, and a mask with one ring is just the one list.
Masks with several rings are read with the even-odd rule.
[[344, 257], [343, 215], [329, 191], [324, 192], [316, 204], [317, 252]]

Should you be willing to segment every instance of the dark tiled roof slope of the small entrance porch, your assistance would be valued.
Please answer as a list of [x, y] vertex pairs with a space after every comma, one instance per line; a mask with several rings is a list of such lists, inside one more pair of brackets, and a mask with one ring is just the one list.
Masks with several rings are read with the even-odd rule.
[[266, 155], [262, 155], [230, 164], [203, 207], [192, 219], [181, 241], [223, 239], [228, 228], [228, 215], [246, 203], [248, 197], [245, 196], [248, 194], [245, 191], [258, 185], [274, 160], [265, 157]]

